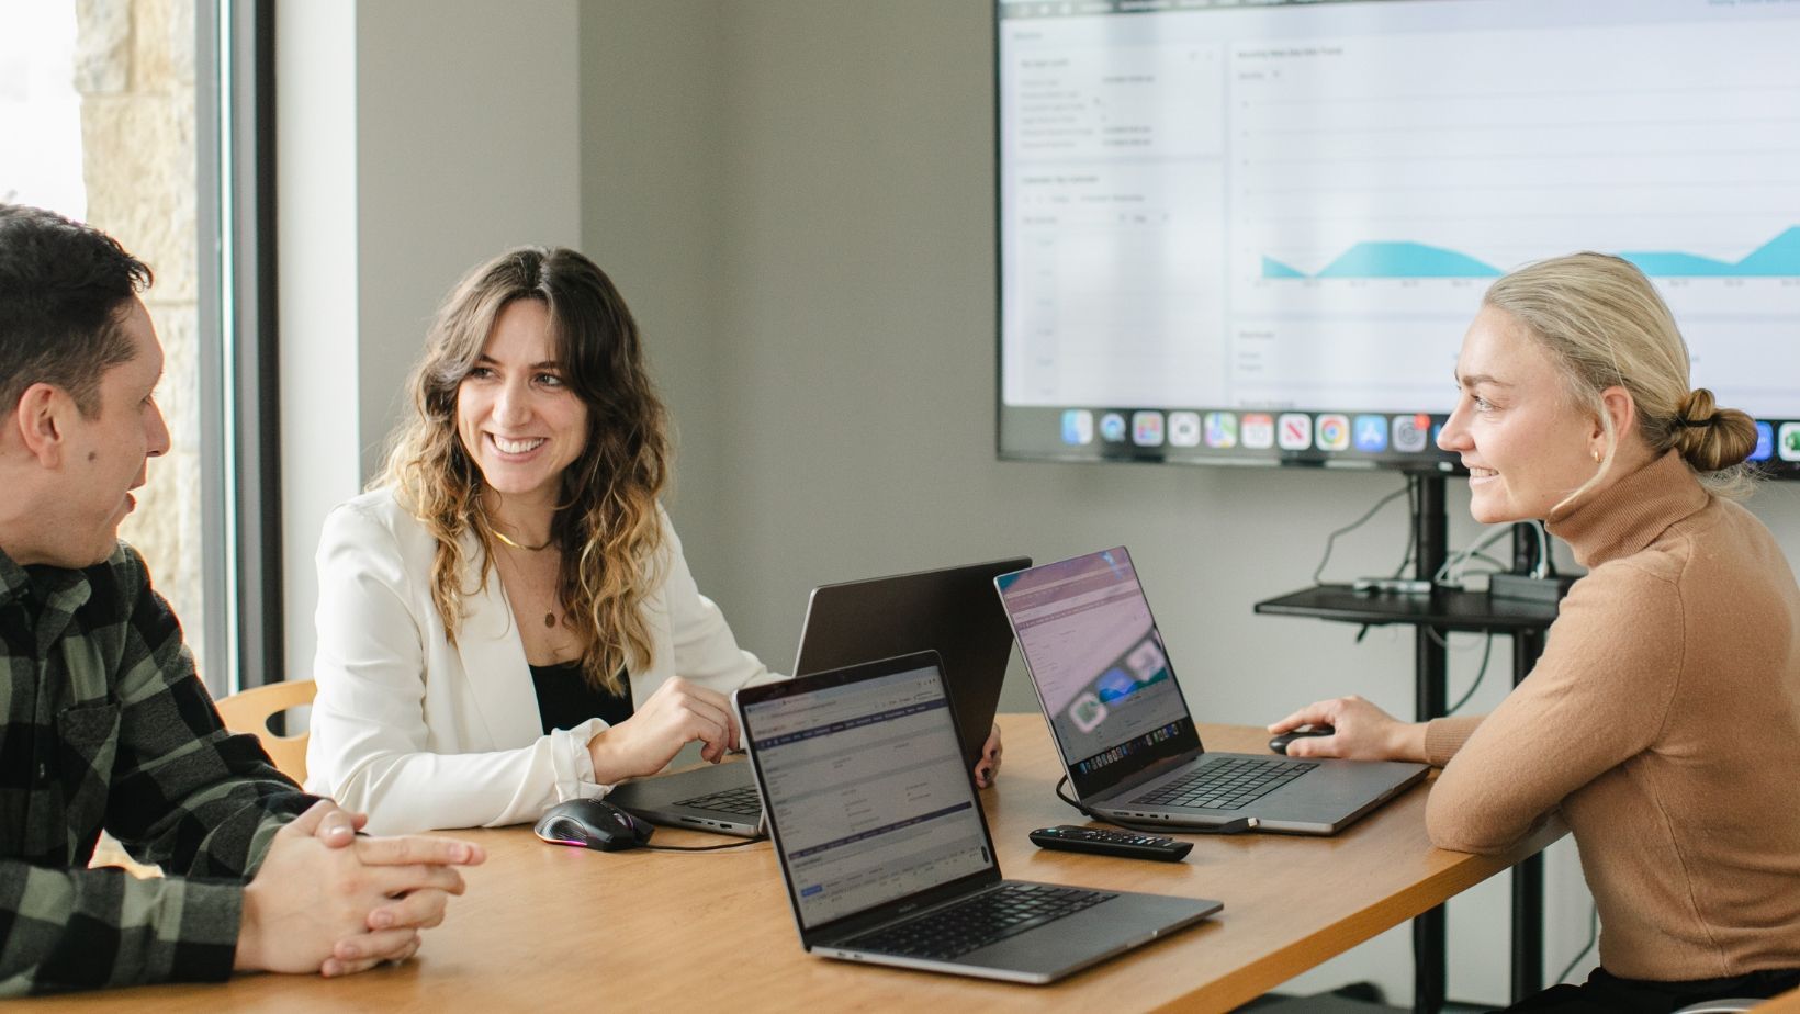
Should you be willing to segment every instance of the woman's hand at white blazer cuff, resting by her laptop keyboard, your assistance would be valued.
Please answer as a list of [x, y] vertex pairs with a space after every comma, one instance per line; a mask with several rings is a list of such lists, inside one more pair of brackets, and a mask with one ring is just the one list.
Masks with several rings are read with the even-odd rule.
[[722, 693], [673, 677], [630, 719], [587, 740], [594, 782], [610, 785], [655, 774], [693, 740], [704, 742], [700, 756], [716, 764], [738, 747], [738, 717]]

